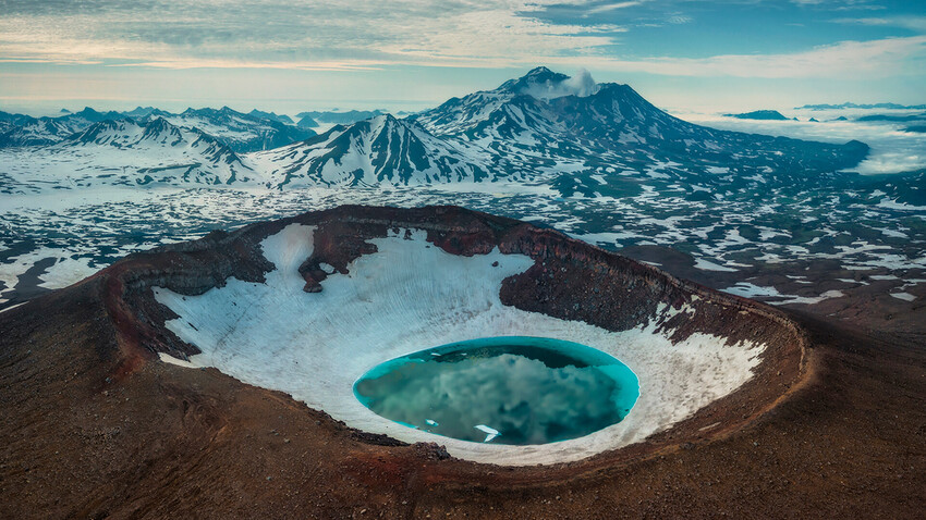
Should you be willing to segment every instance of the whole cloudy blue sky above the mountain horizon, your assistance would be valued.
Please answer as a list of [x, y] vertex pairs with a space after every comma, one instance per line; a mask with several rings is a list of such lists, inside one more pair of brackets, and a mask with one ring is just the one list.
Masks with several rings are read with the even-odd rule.
[[0, 0], [0, 110], [419, 110], [529, 69], [666, 109], [926, 103], [923, 0]]

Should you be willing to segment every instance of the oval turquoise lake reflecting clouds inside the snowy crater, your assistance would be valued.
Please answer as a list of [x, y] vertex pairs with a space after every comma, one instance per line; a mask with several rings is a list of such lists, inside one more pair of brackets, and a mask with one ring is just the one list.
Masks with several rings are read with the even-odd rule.
[[503, 336], [451, 343], [374, 367], [354, 395], [389, 420], [494, 444], [577, 438], [623, 420], [636, 374], [577, 343]]

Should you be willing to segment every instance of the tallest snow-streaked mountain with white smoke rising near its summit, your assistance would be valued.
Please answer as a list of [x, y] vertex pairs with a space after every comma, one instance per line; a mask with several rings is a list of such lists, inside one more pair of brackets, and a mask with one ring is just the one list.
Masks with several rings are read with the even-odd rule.
[[[504, 154], [585, 157], [589, 170], [649, 170], [709, 184], [757, 175], [793, 182], [851, 168], [868, 151], [857, 141], [828, 145], [695, 125], [659, 110], [628, 85], [595, 84], [546, 67], [411, 119], [435, 135]], [[721, 170], [734, 175], [718, 175]]]

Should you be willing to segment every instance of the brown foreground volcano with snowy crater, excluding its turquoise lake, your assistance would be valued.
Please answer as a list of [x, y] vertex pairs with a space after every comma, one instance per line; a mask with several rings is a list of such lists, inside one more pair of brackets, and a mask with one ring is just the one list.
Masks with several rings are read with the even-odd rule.
[[[924, 506], [922, 348], [456, 207], [217, 231], [8, 309], [0, 331], [0, 508], [17, 518]], [[485, 336], [614, 355], [639, 398], [592, 434], [513, 446], [407, 428], [353, 395], [378, 363]]]

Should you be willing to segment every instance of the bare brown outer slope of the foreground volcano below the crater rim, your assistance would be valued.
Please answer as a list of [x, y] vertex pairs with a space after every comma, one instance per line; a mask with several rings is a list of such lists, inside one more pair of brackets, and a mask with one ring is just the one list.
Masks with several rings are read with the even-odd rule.
[[161, 363], [126, 344], [138, 317], [113, 312], [114, 280], [125, 278], [110, 270], [0, 313], [4, 518], [918, 518], [926, 509], [922, 310], [886, 319], [874, 295], [832, 310], [861, 317], [855, 326], [820, 315], [830, 311], [783, 311], [807, 334], [803, 370], [789, 372], [796, 364], [782, 358], [777, 373], [718, 406], [720, 424], [703, 417], [581, 462], [512, 469], [392, 445], [214, 369]]

